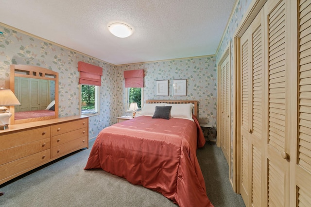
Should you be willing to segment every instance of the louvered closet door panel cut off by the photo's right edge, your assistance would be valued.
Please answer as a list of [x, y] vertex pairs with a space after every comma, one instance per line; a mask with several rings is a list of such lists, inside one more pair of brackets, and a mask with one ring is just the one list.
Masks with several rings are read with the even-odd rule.
[[[299, 75], [297, 159], [293, 160], [294, 202], [299, 207], [311, 206], [311, 0], [298, 5]], [[295, 196], [297, 195], [297, 196]], [[295, 202], [296, 201], [296, 202]]]

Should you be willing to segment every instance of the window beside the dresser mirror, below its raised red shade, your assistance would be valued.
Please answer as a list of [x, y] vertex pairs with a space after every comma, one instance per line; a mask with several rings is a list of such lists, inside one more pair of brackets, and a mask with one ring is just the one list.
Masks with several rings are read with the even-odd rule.
[[80, 84], [80, 111], [82, 115], [99, 113], [99, 86]]

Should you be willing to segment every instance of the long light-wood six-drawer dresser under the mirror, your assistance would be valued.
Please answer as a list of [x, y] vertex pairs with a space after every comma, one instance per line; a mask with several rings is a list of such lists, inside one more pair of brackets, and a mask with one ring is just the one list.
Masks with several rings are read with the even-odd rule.
[[0, 131], [0, 184], [82, 148], [88, 148], [86, 116], [10, 125]]

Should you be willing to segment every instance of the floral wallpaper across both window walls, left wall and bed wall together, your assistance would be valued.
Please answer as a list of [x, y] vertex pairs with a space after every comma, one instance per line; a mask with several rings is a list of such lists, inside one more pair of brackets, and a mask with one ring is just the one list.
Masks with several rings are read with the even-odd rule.
[[[59, 73], [59, 117], [79, 115], [78, 61], [103, 68], [100, 115], [89, 118], [89, 138], [126, 114], [123, 70], [145, 69], [144, 100], [199, 101], [199, 121], [216, 124], [215, 56], [114, 66], [0, 24], [0, 87], [9, 87], [10, 65], [35, 65]], [[155, 96], [155, 81], [169, 80], [167, 97]], [[187, 79], [187, 96], [172, 95], [173, 79]]]

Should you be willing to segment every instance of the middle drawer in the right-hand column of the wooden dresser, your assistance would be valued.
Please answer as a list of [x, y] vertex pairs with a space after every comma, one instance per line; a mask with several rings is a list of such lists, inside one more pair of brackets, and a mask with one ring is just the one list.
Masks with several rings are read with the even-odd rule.
[[57, 145], [64, 144], [66, 142], [69, 142], [71, 140], [85, 137], [87, 133], [87, 127], [82, 129], [77, 129], [71, 132], [67, 132], [64, 134], [56, 135], [52, 137], [52, 147], [55, 147]]

